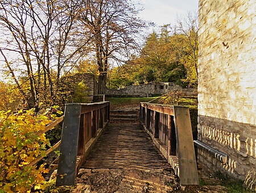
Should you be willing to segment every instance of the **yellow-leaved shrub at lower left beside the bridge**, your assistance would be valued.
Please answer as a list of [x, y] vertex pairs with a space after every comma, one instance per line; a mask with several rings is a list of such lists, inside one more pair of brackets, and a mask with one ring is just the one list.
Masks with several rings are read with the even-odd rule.
[[0, 192], [42, 188], [42, 173], [48, 170], [44, 165], [32, 166], [29, 163], [38, 156], [46, 156], [46, 146], [50, 146], [44, 134], [36, 135], [51, 123], [49, 112], [35, 115], [31, 109], [9, 113], [0, 111]]

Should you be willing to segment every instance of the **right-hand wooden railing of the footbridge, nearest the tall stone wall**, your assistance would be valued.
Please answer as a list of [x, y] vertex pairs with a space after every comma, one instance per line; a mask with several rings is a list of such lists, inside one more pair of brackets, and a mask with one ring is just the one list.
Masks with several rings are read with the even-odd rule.
[[141, 103], [139, 118], [179, 176], [180, 184], [198, 184], [189, 108]]

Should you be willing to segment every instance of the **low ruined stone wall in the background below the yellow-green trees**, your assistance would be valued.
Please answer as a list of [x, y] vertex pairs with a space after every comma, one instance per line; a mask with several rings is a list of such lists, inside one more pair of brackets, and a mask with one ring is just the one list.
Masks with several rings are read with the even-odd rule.
[[172, 90], [183, 90], [188, 94], [195, 93], [196, 89], [183, 89], [180, 85], [173, 82], [150, 82], [144, 85], [132, 85], [123, 89], [107, 89], [106, 95], [133, 95], [151, 96], [152, 94], [166, 94]]

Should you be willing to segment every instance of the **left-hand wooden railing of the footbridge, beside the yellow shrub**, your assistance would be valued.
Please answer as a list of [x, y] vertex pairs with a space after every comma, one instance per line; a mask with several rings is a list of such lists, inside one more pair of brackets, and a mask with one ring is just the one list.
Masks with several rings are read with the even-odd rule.
[[75, 184], [85, 157], [109, 121], [109, 102], [65, 105], [56, 186]]

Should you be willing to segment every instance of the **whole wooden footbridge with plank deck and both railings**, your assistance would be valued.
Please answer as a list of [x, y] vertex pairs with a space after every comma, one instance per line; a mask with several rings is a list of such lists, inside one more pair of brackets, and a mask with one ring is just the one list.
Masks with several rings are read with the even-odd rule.
[[108, 124], [109, 102], [66, 104], [56, 185], [74, 185], [80, 168], [172, 168], [180, 184], [198, 184], [188, 108], [141, 103], [135, 113], [115, 111]]

